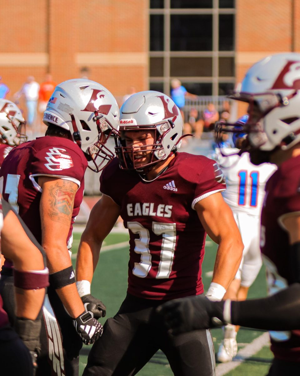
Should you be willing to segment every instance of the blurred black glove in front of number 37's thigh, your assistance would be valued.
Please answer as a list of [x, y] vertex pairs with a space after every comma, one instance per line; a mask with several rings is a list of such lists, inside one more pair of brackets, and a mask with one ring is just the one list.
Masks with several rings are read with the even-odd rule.
[[205, 296], [174, 299], [156, 308], [170, 334], [180, 334], [197, 329], [224, 324], [224, 301], [211, 302]]

